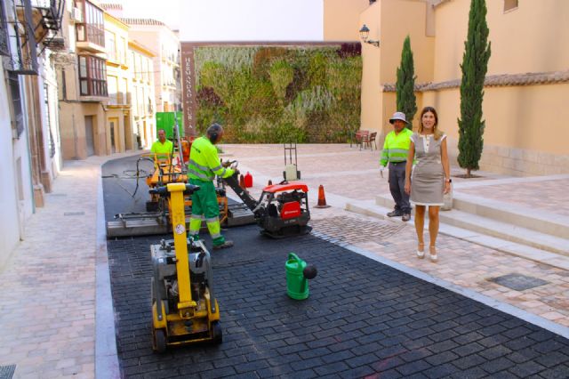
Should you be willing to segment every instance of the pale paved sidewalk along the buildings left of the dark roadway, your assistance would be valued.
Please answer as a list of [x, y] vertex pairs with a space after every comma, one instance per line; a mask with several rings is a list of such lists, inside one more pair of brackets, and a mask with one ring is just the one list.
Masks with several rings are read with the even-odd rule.
[[99, 173], [68, 163], [0, 270], [0, 366], [14, 377], [94, 377]]

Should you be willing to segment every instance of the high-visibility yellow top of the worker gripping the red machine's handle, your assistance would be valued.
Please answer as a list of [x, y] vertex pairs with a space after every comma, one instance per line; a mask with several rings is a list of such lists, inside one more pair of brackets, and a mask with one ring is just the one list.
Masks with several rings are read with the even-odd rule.
[[192, 142], [188, 162], [189, 179], [212, 181], [215, 175], [221, 178], [228, 178], [233, 173], [232, 169], [223, 167], [220, 164], [217, 148], [210, 140], [205, 137], [199, 137]]

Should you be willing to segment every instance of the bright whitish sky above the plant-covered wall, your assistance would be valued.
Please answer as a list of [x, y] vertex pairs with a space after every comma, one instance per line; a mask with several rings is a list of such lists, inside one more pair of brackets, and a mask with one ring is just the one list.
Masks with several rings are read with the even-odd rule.
[[161, 20], [171, 28], [180, 29], [181, 41], [322, 41], [324, 38], [323, 0], [123, 0], [122, 3], [124, 17]]

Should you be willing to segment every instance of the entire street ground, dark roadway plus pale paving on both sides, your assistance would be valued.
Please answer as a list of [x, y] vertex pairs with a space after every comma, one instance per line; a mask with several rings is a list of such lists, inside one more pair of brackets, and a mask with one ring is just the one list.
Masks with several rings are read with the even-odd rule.
[[[252, 193], [282, 178], [282, 145], [223, 149], [224, 158], [253, 174]], [[132, 162], [132, 154], [111, 158]], [[188, 377], [191, 365], [204, 376], [567, 376], [567, 270], [445, 234], [437, 264], [417, 260], [413, 225], [344, 210], [389, 193], [376, 150], [299, 145], [298, 157], [311, 205], [324, 184], [332, 207], [312, 207], [314, 232], [303, 238], [272, 241], [253, 226], [228, 230], [236, 247], [214, 254], [225, 342], [163, 356], [149, 349], [148, 245], [156, 238], [107, 243], [104, 235], [105, 214], [140, 210], [146, 194], [139, 189], [140, 199], [130, 198], [132, 171], [101, 175], [108, 157], [66, 162], [0, 268], [0, 373], [7, 367], [18, 378]], [[567, 214], [559, 197], [535, 202], [541, 189], [563, 188], [566, 175], [482, 176], [456, 180], [455, 193]], [[103, 184], [106, 200], [121, 206], [103, 207]], [[319, 269], [304, 302], [284, 293], [290, 251]], [[514, 273], [547, 283], [515, 290], [491, 280]]]

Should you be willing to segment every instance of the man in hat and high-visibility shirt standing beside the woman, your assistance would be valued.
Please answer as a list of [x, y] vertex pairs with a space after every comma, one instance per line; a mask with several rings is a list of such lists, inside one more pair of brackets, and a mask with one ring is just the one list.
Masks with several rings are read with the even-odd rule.
[[389, 123], [393, 125], [393, 132], [385, 136], [380, 160], [381, 170], [389, 163], [389, 191], [395, 201], [395, 209], [388, 216], [401, 216], [401, 220], [407, 222], [411, 218], [411, 204], [405, 193], [405, 163], [413, 132], [405, 127], [409, 122], [403, 112], [395, 112]]

